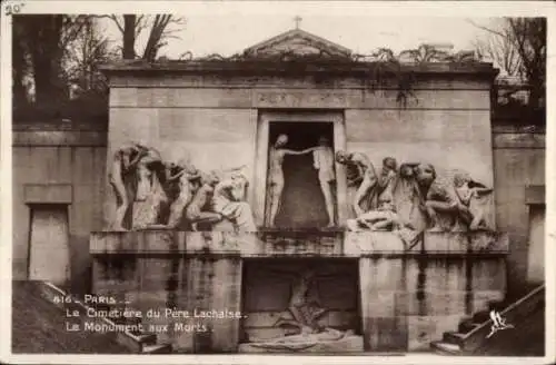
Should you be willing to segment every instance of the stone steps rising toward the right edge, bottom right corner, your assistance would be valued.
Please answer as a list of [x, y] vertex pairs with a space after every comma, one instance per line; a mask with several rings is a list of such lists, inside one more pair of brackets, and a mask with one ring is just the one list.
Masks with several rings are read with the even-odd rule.
[[545, 286], [542, 285], [514, 303], [490, 302], [487, 310], [480, 310], [460, 320], [457, 331], [446, 332], [441, 341], [430, 343], [433, 352], [439, 355], [465, 355], [480, 347], [492, 325], [490, 310], [497, 310], [512, 324], [527, 316], [538, 303], [544, 300]]

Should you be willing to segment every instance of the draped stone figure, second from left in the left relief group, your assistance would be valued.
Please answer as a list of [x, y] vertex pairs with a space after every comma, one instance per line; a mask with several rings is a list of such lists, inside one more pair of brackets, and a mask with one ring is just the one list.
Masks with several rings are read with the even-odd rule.
[[147, 154], [137, 162], [133, 229], [145, 229], [158, 224], [161, 204], [168, 200], [160, 184], [160, 176], [165, 170], [160, 154], [152, 148], [148, 148]]

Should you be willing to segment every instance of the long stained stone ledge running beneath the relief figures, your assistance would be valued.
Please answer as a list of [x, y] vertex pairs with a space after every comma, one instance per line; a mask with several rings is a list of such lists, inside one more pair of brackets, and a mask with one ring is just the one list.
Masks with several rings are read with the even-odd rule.
[[241, 257], [360, 257], [369, 255], [507, 254], [499, 233], [431, 233], [407, 244], [393, 231], [98, 231], [92, 255], [183, 254]]

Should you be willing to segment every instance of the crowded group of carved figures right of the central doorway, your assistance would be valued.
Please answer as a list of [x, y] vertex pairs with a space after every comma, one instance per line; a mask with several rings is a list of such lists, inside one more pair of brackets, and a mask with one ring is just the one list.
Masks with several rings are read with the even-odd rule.
[[356, 218], [347, 220], [348, 230], [393, 230], [408, 244], [425, 229], [492, 230], [486, 201], [493, 189], [466, 172], [440, 178], [433, 165], [405, 162], [398, 169], [396, 159], [387, 157], [376, 174], [359, 152], [338, 151], [336, 160], [347, 167], [348, 186], [356, 188]]

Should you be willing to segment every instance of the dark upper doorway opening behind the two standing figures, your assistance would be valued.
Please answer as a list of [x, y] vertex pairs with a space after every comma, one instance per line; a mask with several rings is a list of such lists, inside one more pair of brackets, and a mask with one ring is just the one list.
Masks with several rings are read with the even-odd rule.
[[[270, 122], [269, 142], [274, 145], [279, 135], [288, 136], [286, 149], [298, 151], [315, 147], [320, 137], [327, 137], [334, 149], [332, 122]], [[328, 216], [312, 154], [286, 155], [282, 171], [285, 185], [280, 209], [276, 216], [276, 227], [290, 229], [325, 227], [328, 224]]]

